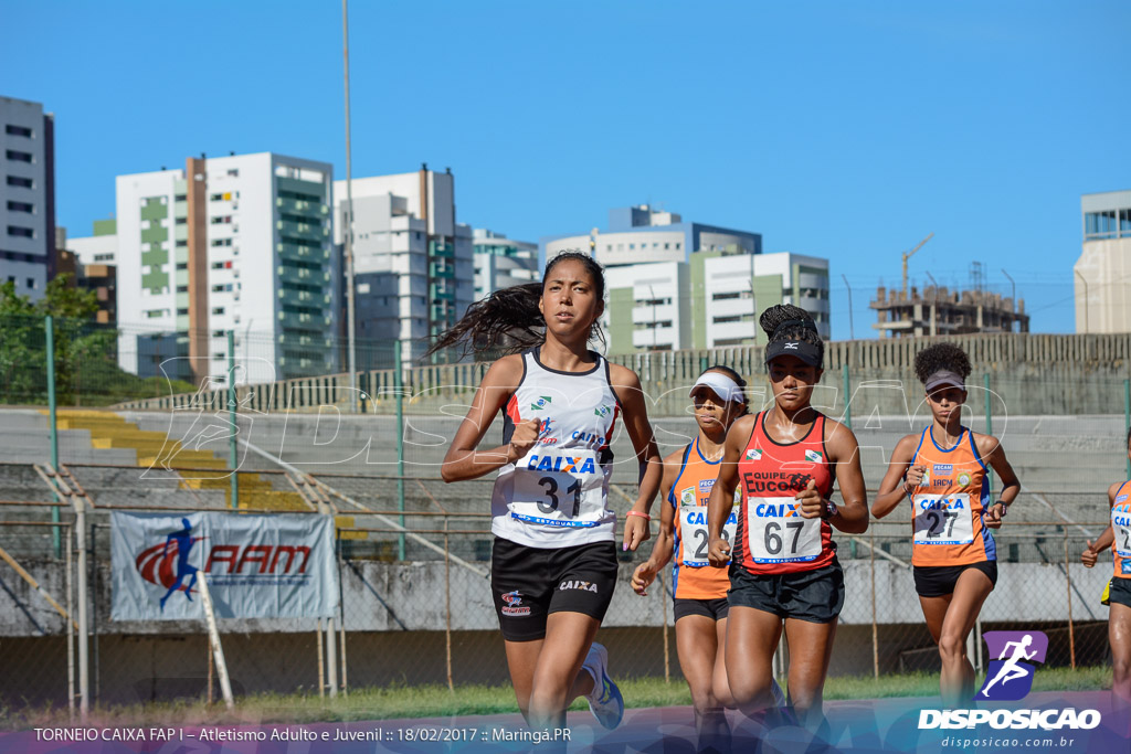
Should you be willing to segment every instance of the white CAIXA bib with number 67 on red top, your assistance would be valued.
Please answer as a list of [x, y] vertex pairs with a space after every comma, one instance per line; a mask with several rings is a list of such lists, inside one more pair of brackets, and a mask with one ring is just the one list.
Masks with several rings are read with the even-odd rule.
[[821, 520], [801, 518], [795, 497], [748, 497], [746, 532], [754, 563], [815, 561], [821, 554]]

